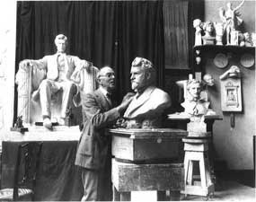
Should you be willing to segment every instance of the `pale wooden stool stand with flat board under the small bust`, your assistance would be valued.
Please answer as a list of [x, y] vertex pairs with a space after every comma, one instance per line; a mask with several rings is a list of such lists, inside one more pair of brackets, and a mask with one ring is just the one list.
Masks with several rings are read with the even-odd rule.
[[[184, 137], [184, 167], [185, 167], [185, 189], [183, 194], [213, 196], [215, 191], [214, 163], [213, 163], [213, 124], [217, 115], [206, 115], [204, 117], [189, 117], [179, 114], [169, 115], [170, 120], [187, 121], [188, 136]], [[208, 149], [209, 148], [209, 149]], [[200, 186], [193, 181], [193, 162], [199, 162]]]

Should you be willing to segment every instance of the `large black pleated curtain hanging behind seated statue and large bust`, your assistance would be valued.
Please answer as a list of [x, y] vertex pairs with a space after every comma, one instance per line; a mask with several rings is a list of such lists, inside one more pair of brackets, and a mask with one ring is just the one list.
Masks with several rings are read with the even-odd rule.
[[16, 71], [22, 59], [54, 54], [54, 39], [59, 33], [68, 38], [68, 54], [97, 67], [114, 68], [118, 101], [130, 91], [129, 70], [134, 57], [150, 59], [158, 72], [158, 85], [163, 86], [161, 2], [17, 2]]

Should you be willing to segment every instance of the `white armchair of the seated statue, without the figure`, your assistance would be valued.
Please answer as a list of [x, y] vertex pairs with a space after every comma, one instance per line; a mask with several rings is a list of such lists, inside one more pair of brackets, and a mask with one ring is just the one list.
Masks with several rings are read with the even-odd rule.
[[[41, 108], [40, 108], [40, 95], [35, 93], [38, 91], [40, 83], [46, 78], [46, 71], [44, 69], [38, 69], [35, 66], [23, 66], [24, 63], [20, 63], [19, 71], [16, 75], [15, 82], [18, 84], [18, 109], [17, 117], [22, 116], [23, 123], [32, 124], [36, 122], [42, 122]], [[78, 86], [78, 94], [76, 95], [76, 103], [83, 101], [84, 94], [87, 92], [93, 92], [97, 88], [96, 75], [98, 68], [93, 66], [90, 71], [82, 69], [75, 72], [71, 78]], [[52, 95], [51, 99], [51, 119], [54, 120], [60, 117], [61, 111], [61, 91]], [[83, 110], [81, 106], [78, 106], [71, 101], [70, 110], [73, 121], [71, 125], [79, 125], [84, 118]]]

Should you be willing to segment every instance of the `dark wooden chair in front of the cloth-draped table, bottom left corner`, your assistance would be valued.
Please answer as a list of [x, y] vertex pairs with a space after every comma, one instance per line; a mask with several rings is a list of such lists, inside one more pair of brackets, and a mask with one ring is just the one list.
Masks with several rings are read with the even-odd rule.
[[14, 167], [13, 187], [0, 189], [0, 201], [34, 200], [40, 170], [42, 142], [19, 145]]

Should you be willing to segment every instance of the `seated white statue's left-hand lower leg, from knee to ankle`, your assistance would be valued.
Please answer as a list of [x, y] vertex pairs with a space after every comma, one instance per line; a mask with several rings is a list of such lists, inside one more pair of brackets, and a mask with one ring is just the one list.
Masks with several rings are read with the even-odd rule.
[[50, 118], [50, 101], [51, 101], [52, 82], [48, 79], [40, 83], [40, 105], [43, 117]]

